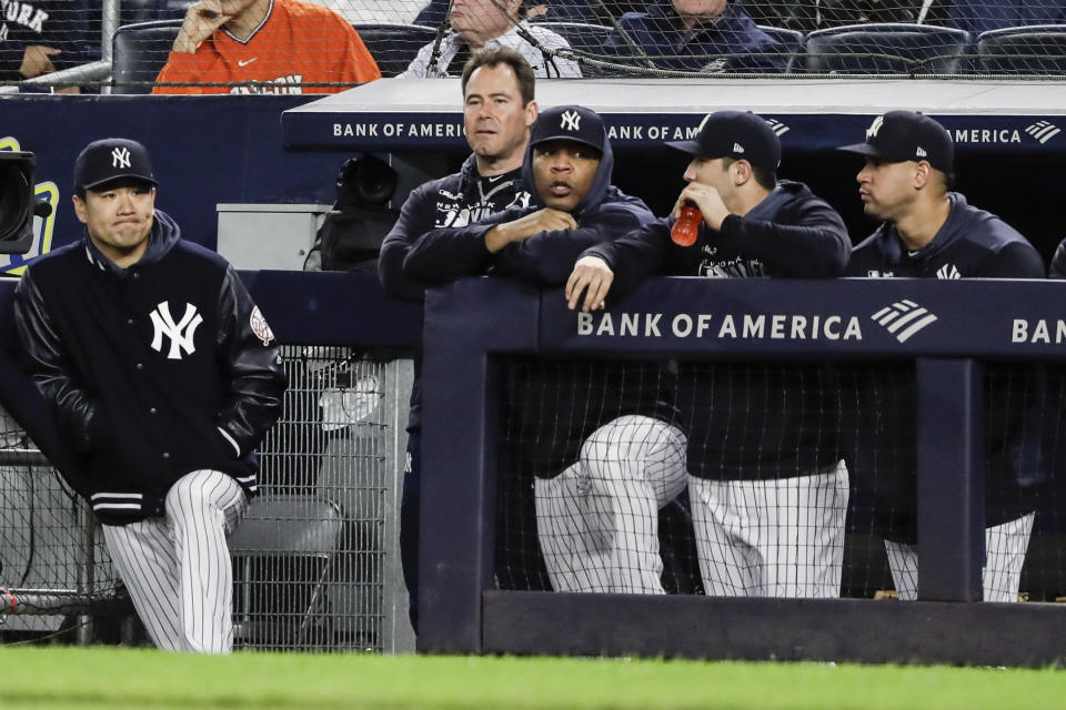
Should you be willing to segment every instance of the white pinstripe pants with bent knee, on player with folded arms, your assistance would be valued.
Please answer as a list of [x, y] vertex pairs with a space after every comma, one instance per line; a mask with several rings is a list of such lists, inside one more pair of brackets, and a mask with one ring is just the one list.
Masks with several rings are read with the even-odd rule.
[[580, 459], [536, 478], [536, 528], [555, 591], [665, 594], [658, 509], [685, 488], [685, 435], [626, 415], [585, 439]]

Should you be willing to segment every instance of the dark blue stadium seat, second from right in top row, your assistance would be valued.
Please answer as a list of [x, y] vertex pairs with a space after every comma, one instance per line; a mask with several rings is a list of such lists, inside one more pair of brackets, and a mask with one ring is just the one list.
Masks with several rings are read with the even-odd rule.
[[807, 34], [803, 69], [819, 74], [965, 73], [969, 32], [906, 23], [847, 24]]

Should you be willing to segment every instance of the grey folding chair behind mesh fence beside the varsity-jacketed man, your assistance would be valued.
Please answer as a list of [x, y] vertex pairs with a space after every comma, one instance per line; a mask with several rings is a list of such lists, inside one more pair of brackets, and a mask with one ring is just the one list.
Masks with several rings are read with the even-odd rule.
[[303, 648], [332, 642], [328, 585], [343, 529], [332, 500], [298, 495], [252, 500], [229, 540], [235, 643]]

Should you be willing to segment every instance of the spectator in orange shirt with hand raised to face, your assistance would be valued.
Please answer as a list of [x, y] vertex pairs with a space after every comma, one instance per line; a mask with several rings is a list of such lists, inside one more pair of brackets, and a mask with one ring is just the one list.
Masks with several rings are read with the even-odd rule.
[[375, 79], [374, 58], [332, 10], [301, 0], [198, 0], [152, 93], [335, 93], [349, 87], [306, 84]]

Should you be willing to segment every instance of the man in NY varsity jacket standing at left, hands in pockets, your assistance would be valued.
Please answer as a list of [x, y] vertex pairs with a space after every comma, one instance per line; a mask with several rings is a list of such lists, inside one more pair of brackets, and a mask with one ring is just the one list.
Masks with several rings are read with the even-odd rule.
[[90, 143], [77, 243], [34, 261], [14, 318], [34, 384], [86, 457], [71, 485], [159, 648], [229, 652], [225, 536], [255, 495], [254, 449], [281, 412], [278, 344], [237, 272], [157, 211], [148, 151]]

